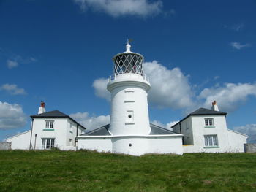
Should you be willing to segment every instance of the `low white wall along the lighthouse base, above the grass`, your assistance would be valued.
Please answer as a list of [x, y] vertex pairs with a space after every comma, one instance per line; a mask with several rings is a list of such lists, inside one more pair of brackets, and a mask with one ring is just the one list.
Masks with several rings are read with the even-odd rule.
[[80, 136], [78, 137], [78, 150], [97, 150], [127, 155], [144, 155], [147, 153], [182, 155], [181, 138], [181, 135]]

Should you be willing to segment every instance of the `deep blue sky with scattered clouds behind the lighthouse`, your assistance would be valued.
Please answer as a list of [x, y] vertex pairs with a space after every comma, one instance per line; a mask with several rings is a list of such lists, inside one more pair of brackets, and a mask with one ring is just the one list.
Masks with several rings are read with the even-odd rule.
[[151, 123], [170, 128], [216, 100], [256, 142], [256, 1], [0, 0], [0, 141], [40, 101], [86, 128], [109, 123], [112, 58], [145, 58]]

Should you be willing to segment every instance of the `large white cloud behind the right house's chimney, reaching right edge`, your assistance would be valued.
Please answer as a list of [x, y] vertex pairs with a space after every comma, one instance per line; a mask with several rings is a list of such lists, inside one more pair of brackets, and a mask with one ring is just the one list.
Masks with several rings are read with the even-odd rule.
[[225, 83], [223, 86], [205, 88], [198, 99], [204, 100], [204, 107], [211, 106], [211, 102], [216, 100], [219, 110], [232, 112], [246, 101], [248, 96], [256, 96], [256, 83]]

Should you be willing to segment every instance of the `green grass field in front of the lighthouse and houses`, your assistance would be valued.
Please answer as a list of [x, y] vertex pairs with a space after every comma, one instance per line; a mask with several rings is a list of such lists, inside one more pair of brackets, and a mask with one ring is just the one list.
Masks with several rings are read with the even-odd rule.
[[256, 154], [0, 151], [0, 191], [256, 191]]

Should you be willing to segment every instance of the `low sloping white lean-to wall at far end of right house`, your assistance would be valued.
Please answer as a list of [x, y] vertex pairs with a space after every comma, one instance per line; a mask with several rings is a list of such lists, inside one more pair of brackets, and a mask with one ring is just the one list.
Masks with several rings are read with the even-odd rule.
[[228, 142], [230, 144], [228, 151], [232, 153], [243, 153], [244, 144], [247, 142], [247, 137], [244, 134], [239, 134], [236, 131], [227, 129]]

